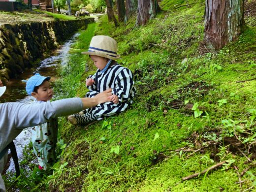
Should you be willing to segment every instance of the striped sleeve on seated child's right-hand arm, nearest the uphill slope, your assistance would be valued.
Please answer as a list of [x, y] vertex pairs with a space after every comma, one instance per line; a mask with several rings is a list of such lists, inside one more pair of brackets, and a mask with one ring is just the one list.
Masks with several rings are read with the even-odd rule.
[[129, 98], [133, 85], [131, 71], [128, 68], [124, 68], [115, 78], [112, 94], [118, 96], [120, 102], [125, 102]]

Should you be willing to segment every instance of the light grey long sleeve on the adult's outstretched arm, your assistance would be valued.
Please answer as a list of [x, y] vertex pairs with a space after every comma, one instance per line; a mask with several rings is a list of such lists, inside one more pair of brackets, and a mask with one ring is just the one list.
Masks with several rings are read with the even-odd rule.
[[15, 127], [26, 128], [45, 123], [55, 117], [78, 113], [83, 109], [81, 98], [67, 98], [40, 104], [18, 105], [15, 110]]

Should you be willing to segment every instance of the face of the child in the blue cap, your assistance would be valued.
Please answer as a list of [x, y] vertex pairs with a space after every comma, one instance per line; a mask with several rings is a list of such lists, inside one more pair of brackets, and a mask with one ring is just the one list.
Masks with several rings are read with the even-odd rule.
[[31, 94], [36, 100], [48, 101], [53, 97], [53, 90], [49, 81], [44, 81], [37, 90], [37, 93]]

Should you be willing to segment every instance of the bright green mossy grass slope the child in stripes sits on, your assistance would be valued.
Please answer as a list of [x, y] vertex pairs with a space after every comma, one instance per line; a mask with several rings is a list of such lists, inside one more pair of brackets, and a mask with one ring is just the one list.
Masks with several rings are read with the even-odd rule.
[[[128, 111], [104, 120], [110, 128], [103, 121], [74, 127], [61, 118], [59, 132], [67, 147], [48, 177], [50, 190], [255, 189], [256, 27], [250, 22], [237, 41], [208, 52], [202, 44], [204, 1], [193, 2], [164, 0], [161, 6], [168, 9], [191, 5], [161, 12], [145, 27], [134, 29], [133, 18], [115, 28], [103, 16], [81, 32], [60, 71], [59, 98], [87, 92], [85, 79], [96, 68], [80, 52], [95, 34], [118, 41], [119, 63], [133, 71], [137, 97]], [[195, 118], [194, 111], [202, 114]], [[119, 154], [111, 153], [117, 145]], [[224, 160], [222, 167], [181, 182]]]

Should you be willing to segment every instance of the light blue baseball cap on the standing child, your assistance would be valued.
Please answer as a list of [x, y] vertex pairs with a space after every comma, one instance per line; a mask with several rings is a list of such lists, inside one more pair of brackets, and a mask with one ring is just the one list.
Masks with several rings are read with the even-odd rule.
[[41, 76], [39, 73], [35, 73], [26, 84], [26, 91], [31, 96], [32, 92], [34, 91], [34, 88], [41, 85], [45, 80], [49, 81], [51, 77], [44, 77]]

